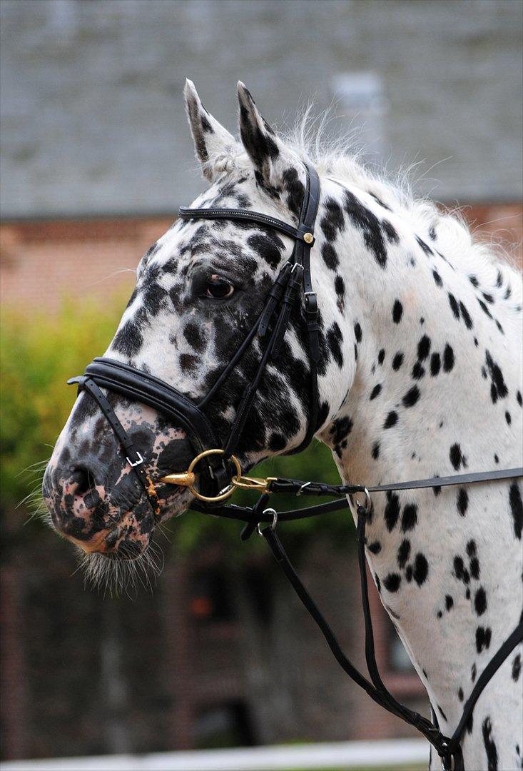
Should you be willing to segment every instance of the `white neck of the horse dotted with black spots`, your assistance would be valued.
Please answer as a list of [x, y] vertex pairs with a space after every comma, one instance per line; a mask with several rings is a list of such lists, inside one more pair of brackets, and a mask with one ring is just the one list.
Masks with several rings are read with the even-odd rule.
[[[341, 190], [336, 194], [341, 200]], [[397, 239], [390, 231], [387, 241], [383, 231], [386, 264], [380, 264], [362, 213], [345, 217], [344, 355], [353, 355], [354, 341], [355, 373], [322, 435], [340, 475], [370, 485], [521, 466], [521, 359], [513, 355], [521, 346], [515, 348], [514, 308], [501, 302], [506, 285], [482, 287], [495, 298], [485, 313], [468, 273], [440, 256], [427, 234], [369, 196], [354, 195], [392, 224]], [[495, 270], [489, 275], [494, 284]], [[521, 526], [518, 538], [510, 503], [515, 484], [374, 495], [370, 571], [449, 735], [475, 678], [521, 613]], [[482, 767], [492, 742], [499, 757], [507, 747], [512, 767], [521, 731], [512, 658], [474, 710], [479, 733], [467, 734], [465, 767]]]

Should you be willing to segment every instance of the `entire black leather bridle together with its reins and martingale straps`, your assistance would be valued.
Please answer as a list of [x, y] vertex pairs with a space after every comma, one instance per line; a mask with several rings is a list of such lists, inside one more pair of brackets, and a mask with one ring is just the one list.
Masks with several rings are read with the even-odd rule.
[[[290, 452], [300, 453], [310, 444], [314, 434], [320, 428], [318, 425], [320, 418], [317, 388], [317, 364], [320, 359], [318, 333], [320, 327], [318, 323], [317, 296], [313, 291], [310, 275], [310, 250], [314, 244], [314, 224], [320, 200], [320, 180], [316, 170], [310, 164], [303, 163], [303, 165], [306, 172], [306, 187], [297, 227], [293, 227], [293, 225], [277, 220], [267, 214], [260, 214], [260, 212], [251, 210], [220, 208], [180, 208], [179, 210], [179, 216], [185, 220], [214, 219], [250, 222], [279, 231], [294, 239], [292, 255], [289, 261], [281, 268], [272, 288], [267, 294], [263, 309], [256, 319], [253, 328], [246, 335], [233, 358], [223, 369], [223, 372], [221, 372], [203, 399], [195, 402], [174, 389], [172, 385], [153, 377], [153, 375], [149, 375], [149, 373], [136, 369], [131, 365], [118, 362], [115, 359], [105, 357], [94, 359], [85, 369], [84, 375], [72, 378], [68, 382], [78, 383], [79, 390], [87, 391], [106, 416], [119, 443], [122, 445], [126, 460], [132, 466], [139, 483], [149, 498], [156, 517], [159, 517], [160, 513], [159, 498], [156, 493], [155, 484], [150, 478], [149, 473], [147, 473], [146, 461], [137, 451], [131, 437], [122, 426], [122, 423], [120, 423], [116, 412], [112, 409], [101, 389], [108, 389], [128, 399], [147, 404], [176, 426], [182, 426], [186, 430], [196, 456], [189, 463], [186, 471], [167, 474], [159, 481], [175, 484], [179, 487], [188, 487], [196, 498], [196, 502], [191, 505], [193, 510], [245, 522], [245, 527], [243, 527], [241, 533], [242, 540], [247, 540], [253, 534], [253, 531], [257, 529], [259, 534], [267, 540], [267, 544], [269, 544], [273, 551], [278, 564], [280, 564], [294, 591], [296, 591], [298, 597], [310, 612], [314, 621], [316, 621], [324, 638], [327, 640], [330, 650], [344, 671], [370, 695], [371, 699], [374, 699], [384, 709], [417, 728], [437, 750], [444, 769], [460, 771], [460, 769], [464, 769], [460, 747], [464, 727], [467, 725], [474, 705], [478, 701], [485, 685], [487, 685], [515, 646], [523, 640], [523, 620], [520, 621], [504, 644], [501, 645], [501, 648], [491, 658], [491, 661], [475, 682], [474, 689], [472, 689], [471, 695], [464, 705], [461, 720], [453, 736], [447, 737], [441, 733], [434, 712], [432, 713], [433, 722], [431, 722], [423, 715], [397, 702], [394, 696], [385, 688], [377, 668], [374, 652], [374, 635], [370, 618], [365, 560], [365, 527], [373, 513], [370, 493], [391, 492], [393, 490], [417, 490], [428, 487], [437, 488], [512, 479], [523, 476], [523, 468], [433, 477], [427, 480], [399, 482], [367, 488], [360, 485], [327, 485], [280, 477], [258, 479], [256, 477], [243, 476], [240, 463], [234, 455], [234, 451], [243, 435], [243, 430], [250, 415], [263, 373], [270, 362], [277, 361], [281, 352], [283, 338], [290, 325], [291, 315], [293, 310], [299, 307], [299, 304], [301, 304], [301, 318], [307, 332], [310, 367], [310, 412], [306, 435], [300, 446]], [[262, 347], [260, 363], [249, 385], [244, 389], [240, 402], [236, 406], [235, 417], [229, 436], [223, 447], [220, 447], [213, 425], [205, 410], [222, 388], [238, 362], [240, 362], [246, 350], [253, 344], [256, 336], [260, 341], [260, 347]], [[199, 466], [198, 489], [195, 487], [196, 466]], [[252, 507], [223, 504], [223, 501], [230, 497], [236, 488], [256, 490], [260, 493], [260, 497]], [[341, 500], [331, 500], [328, 503], [320, 503], [305, 509], [287, 510], [277, 513], [273, 508], [267, 507], [270, 493], [294, 493], [297, 496], [330, 496]], [[362, 496], [364, 497], [364, 502], [362, 502]], [[303, 517], [313, 517], [317, 514], [340, 510], [347, 506], [353, 510], [357, 519], [357, 552], [365, 621], [365, 657], [371, 682], [358, 672], [357, 668], [341, 651], [333, 631], [310, 597], [310, 594], [308, 594], [307, 589], [301, 583], [275, 532], [278, 521], [284, 522], [302, 519]], [[262, 527], [262, 524], [266, 524], [266, 526]]]

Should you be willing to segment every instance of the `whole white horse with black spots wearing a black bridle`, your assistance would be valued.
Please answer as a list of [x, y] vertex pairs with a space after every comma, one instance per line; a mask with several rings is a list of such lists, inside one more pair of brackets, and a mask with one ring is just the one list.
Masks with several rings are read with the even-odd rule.
[[[142, 559], [189, 507], [246, 520], [340, 665], [427, 736], [432, 769], [521, 768], [521, 276], [343, 147], [283, 140], [241, 82], [240, 139], [190, 81], [185, 97], [209, 186], [72, 379], [43, 482], [55, 530], [96, 572]], [[313, 436], [343, 484], [245, 476]], [[253, 507], [223, 503], [242, 486]], [[270, 509], [280, 490], [341, 497], [307, 515], [353, 512], [372, 682], [288, 561], [274, 526], [303, 511]], [[365, 559], [432, 722], [381, 682]]]

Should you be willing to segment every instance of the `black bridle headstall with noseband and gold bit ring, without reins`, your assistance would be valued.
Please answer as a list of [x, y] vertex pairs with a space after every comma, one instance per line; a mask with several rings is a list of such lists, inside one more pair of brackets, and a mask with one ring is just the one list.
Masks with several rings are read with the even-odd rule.
[[[292, 453], [300, 453], [310, 444], [316, 433], [318, 420], [318, 389], [317, 389], [317, 362], [320, 358], [318, 308], [316, 294], [313, 292], [310, 278], [310, 249], [314, 243], [313, 227], [316, 220], [317, 208], [320, 199], [320, 180], [313, 167], [305, 166], [307, 173], [306, 192], [300, 209], [298, 227], [287, 224], [250, 210], [236, 209], [186, 209], [179, 210], [179, 216], [186, 220], [213, 219], [248, 221], [253, 224], [270, 227], [273, 230], [294, 239], [293, 253], [286, 264], [281, 268], [276, 280], [270, 289], [263, 309], [256, 322], [246, 335], [233, 358], [226, 365], [223, 372], [213, 383], [210, 390], [200, 399], [194, 402], [183, 393], [174, 389], [158, 378], [135, 367], [118, 362], [115, 359], [97, 358], [85, 369], [84, 375], [72, 378], [69, 383], [78, 383], [83, 389], [98, 402], [100, 409], [109, 420], [112, 429], [118, 436], [119, 442], [125, 450], [127, 460], [136, 470], [139, 481], [149, 497], [153, 510], [159, 511], [158, 498], [154, 490], [154, 484], [147, 476], [142, 456], [134, 448], [132, 439], [119, 423], [114, 410], [103, 397], [100, 387], [109, 389], [152, 406], [162, 412], [164, 416], [173, 421], [177, 426], [186, 430], [187, 436], [196, 451], [196, 457], [189, 469], [181, 474], [169, 474], [161, 481], [189, 487], [193, 495], [202, 503], [216, 505], [233, 494], [235, 487], [252, 485], [248, 477], [241, 476], [240, 463], [234, 456], [234, 451], [241, 439], [246, 419], [260, 386], [263, 372], [269, 362], [278, 359], [285, 333], [290, 325], [291, 314], [298, 298], [303, 290], [303, 316], [307, 327], [308, 352], [310, 363], [310, 413], [307, 423], [306, 436], [300, 446], [291, 450]], [[230, 376], [247, 349], [253, 344], [254, 338], [258, 338], [260, 344], [264, 344], [263, 352], [253, 379], [243, 391], [243, 396], [236, 406], [236, 416], [230, 428], [230, 433], [223, 448], [216, 439], [210, 419], [206, 416], [205, 409], [222, 388], [226, 379]], [[201, 462], [201, 463], [200, 463]], [[199, 490], [194, 483], [196, 475], [194, 469], [199, 465]]]

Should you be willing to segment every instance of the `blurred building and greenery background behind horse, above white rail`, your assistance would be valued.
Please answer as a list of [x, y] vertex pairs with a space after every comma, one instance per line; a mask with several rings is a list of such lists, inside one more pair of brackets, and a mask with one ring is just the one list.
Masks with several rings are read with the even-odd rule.
[[[518, 0], [2, 0], [2, 757], [411, 736], [337, 669], [238, 527], [196, 513], [160, 538], [153, 589], [84, 588], [32, 517], [41, 464], [106, 348], [142, 253], [203, 189], [182, 89], [236, 125], [236, 81], [273, 126], [310, 100], [370, 163], [461, 207], [518, 258]], [[39, 465], [40, 464], [40, 465]], [[336, 480], [315, 446], [283, 475]], [[38, 493], [36, 493], [38, 495]], [[282, 528], [363, 665], [350, 517]], [[312, 535], [314, 537], [312, 538]], [[374, 586], [373, 586], [374, 589]], [[385, 682], [426, 711], [373, 593]]]

